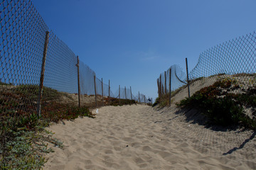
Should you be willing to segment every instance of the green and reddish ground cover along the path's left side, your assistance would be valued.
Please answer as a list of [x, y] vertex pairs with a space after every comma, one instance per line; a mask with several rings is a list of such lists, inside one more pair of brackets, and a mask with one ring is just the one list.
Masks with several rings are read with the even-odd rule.
[[61, 147], [45, 128], [51, 122], [73, 120], [79, 116], [94, 118], [89, 108], [61, 103], [64, 95], [43, 88], [41, 117], [36, 114], [38, 86], [0, 86], [0, 169], [41, 169], [51, 152], [47, 143]]

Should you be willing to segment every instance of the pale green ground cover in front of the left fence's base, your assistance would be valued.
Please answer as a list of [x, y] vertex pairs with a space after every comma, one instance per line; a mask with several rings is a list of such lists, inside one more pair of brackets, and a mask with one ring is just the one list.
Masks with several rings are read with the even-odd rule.
[[41, 169], [47, 161], [43, 154], [51, 152], [46, 141], [62, 147], [53, 139], [44, 123], [36, 121], [33, 130], [22, 125], [21, 116], [1, 116], [0, 169]]

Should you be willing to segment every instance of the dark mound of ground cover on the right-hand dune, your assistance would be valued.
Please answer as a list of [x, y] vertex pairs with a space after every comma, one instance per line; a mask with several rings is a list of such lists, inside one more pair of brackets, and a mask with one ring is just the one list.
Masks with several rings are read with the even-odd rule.
[[178, 106], [197, 108], [214, 125], [240, 125], [256, 130], [255, 118], [245, 114], [245, 108], [255, 108], [256, 87], [243, 89], [242, 93], [233, 93], [239, 89], [235, 79], [222, 79], [197, 91], [191, 98], [183, 99]]

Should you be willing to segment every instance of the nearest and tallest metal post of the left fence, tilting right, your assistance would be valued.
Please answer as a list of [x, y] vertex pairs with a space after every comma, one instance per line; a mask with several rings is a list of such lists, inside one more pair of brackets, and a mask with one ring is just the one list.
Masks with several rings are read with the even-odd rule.
[[43, 79], [44, 79], [44, 72], [46, 69], [46, 54], [47, 54], [47, 48], [48, 48], [48, 42], [49, 42], [49, 31], [46, 31], [46, 39], [45, 44], [43, 47], [43, 60], [42, 60], [42, 67], [41, 67], [41, 77], [40, 77], [40, 84], [39, 84], [39, 90], [38, 90], [38, 105], [37, 105], [37, 116], [38, 119], [41, 117], [41, 98], [43, 95]]

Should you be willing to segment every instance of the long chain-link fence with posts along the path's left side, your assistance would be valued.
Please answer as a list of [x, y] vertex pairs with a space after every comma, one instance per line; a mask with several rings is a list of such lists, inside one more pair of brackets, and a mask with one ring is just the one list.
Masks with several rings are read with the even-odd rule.
[[[0, 24], [1, 114], [46, 112], [56, 102], [78, 106], [117, 98], [110, 85], [94, 80], [95, 72], [48, 32], [30, 0], [1, 1]], [[130, 94], [127, 89], [118, 96], [131, 99]]]

